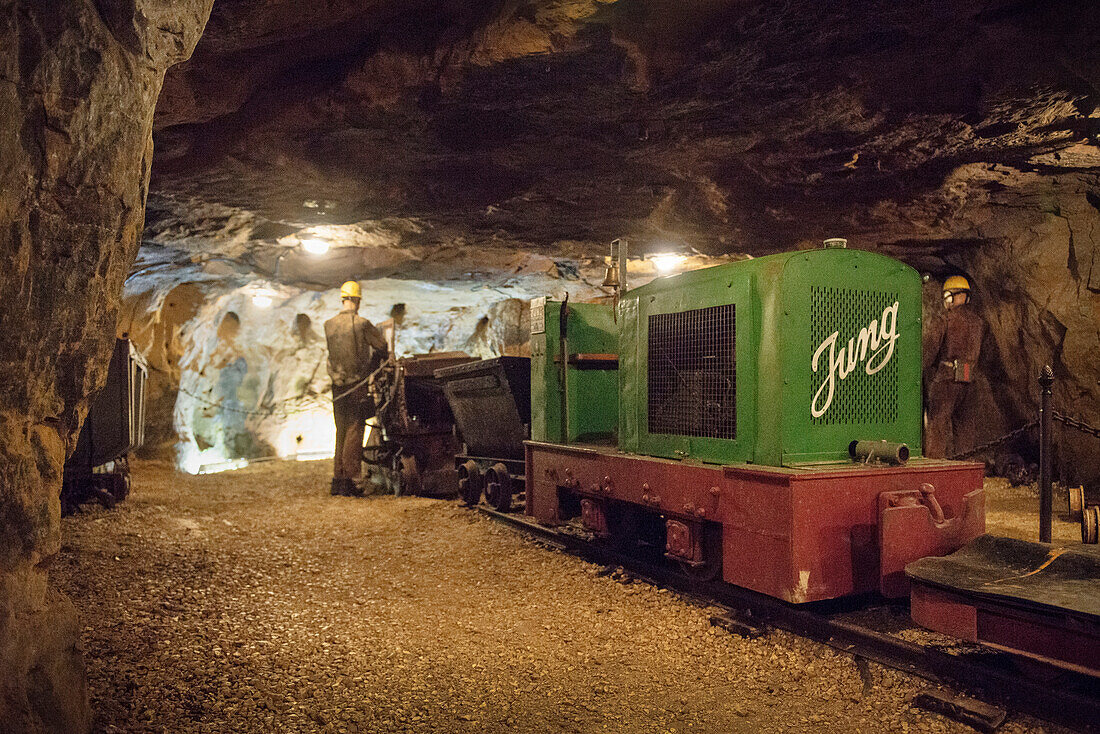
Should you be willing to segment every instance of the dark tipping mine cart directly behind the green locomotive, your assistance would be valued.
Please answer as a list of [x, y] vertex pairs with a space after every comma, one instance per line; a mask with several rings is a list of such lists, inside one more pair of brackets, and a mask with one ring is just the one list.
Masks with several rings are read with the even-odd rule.
[[463, 440], [454, 458], [459, 493], [501, 512], [524, 489], [524, 441], [531, 424], [531, 360], [497, 357], [436, 371]]

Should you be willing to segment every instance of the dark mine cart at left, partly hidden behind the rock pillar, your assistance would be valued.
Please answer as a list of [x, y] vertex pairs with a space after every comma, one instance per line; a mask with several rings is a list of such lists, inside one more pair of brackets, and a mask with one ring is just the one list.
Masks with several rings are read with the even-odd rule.
[[113, 506], [130, 493], [129, 456], [145, 440], [145, 375], [129, 339], [118, 339], [107, 384], [96, 395], [76, 449], [65, 462], [62, 510], [87, 500]]

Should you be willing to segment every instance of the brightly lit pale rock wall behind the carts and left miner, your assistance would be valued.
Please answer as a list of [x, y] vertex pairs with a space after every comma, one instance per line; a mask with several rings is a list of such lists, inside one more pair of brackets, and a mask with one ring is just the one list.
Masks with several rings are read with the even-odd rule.
[[[544, 266], [553, 265], [546, 258], [521, 260], [502, 272], [474, 258], [441, 281], [364, 281], [360, 313], [375, 324], [399, 314], [399, 355], [525, 353], [529, 299], [600, 296], [592, 283], [602, 273], [566, 263], [563, 276]], [[453, 277], [469, 269], [480, 270], [479, 280]], [[272, 304], [257, 306], [257, 293]], [[194, 264], [166, 263], [135, 274], [119, 330], [150, 365], [147, 453], [190, 472], [256, 457], [330, 454], [323, 324], [339, 310], [337, 288], [280, 284], [254, 272], [218, 277]]]

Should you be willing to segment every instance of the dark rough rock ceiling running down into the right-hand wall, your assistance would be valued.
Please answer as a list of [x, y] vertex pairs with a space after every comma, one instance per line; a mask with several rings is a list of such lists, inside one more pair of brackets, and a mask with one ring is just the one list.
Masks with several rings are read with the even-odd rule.
[[[846, 235], [979, 288], [966, 448], [1034, 414], [1044, 362], [1062, 409], [1100, 417], [1098, 44], [1074, 0], [240, 0], [166, 84], [152, 237], [221, 229], [227, 256], [332, 286], [432, 282], [469, 248]], [[369, 259], [278, 260], [342, 224]], [[1094, 440], [1065, 465], [1100, 473]]]

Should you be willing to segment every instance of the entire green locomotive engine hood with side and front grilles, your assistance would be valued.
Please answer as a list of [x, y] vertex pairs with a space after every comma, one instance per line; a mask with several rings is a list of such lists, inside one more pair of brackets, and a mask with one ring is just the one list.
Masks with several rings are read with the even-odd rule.
[[693, 271], [626, 294], [617, 322], [622, 450], [769, 465], [842, 460], [857, 439], [920, 452], [921, 280], [899, 261], [829, 249]]

